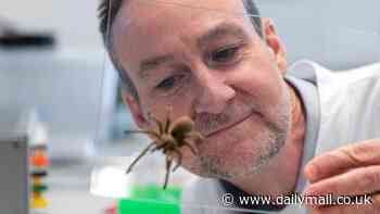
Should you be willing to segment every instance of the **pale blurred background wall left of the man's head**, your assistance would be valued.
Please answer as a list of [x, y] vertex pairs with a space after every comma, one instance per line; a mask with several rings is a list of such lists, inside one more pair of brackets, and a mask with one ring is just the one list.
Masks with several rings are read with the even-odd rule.
[[23, 30], [52, 32], [58, 40], [51, 51], [0, 50], [2, 117], [38, 106], [49, 125], [53, 155], [85, 154], [96, 137], [102, 96], [98, 1], [1, 1], [0, 16]]

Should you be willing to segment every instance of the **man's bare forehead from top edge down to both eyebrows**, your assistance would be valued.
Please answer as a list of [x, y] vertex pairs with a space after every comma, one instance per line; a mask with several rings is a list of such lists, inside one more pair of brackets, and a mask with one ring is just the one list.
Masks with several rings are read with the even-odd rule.
[[225, 20], [232, 22], [228, 16], [241, 16], [243, 11], [241, 0], [127, 0], [115, 23], [115, 49], [125, 63], [173, 53], [173, 39], [197, 42]]

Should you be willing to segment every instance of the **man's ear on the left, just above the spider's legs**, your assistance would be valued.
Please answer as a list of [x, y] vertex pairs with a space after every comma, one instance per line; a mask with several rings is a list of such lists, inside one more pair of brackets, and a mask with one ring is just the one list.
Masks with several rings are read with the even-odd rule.
[[141, 105], [136, 100], [136, 98], [124, 89], [122, 89], [122, 98], [124, 103], [128, 104], [129, 110], [134, 116], [134, 119], [136, 124], [139, 126], [139, 128], [147, 127], [149, 125], [149, 122], [145, 119]]

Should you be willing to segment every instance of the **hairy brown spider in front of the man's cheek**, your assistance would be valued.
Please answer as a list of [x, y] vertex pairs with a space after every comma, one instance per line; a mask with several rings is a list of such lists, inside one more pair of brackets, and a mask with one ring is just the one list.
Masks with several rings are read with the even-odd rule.
[[188, 147], [190, 151], [195, 155], [197, 150], [188, 142], [188, 139], [195, 141], [203, 140], [202, 135], [194, 130], [194, 122], [189, 116], [181, 116], [172, 123], [169, 116], [167, 116], [165, 124], [157, 121], [154, 116], [149, 114], [149, 116], [155, 122], [156, 127], [150, 127], [141, 130], [126, 130], [129, 133], [142, 133], [149, 135], [153, 141], [148, 144], [145, 149], [134, 160], [127, 169], [127, 174], [132, 171], [135, 164], [144, 156], [149, 151], [154, 152], [162, 150], [166, 156], [166, 175], [163, 189], [166, 189], [169, 173], [172, 168], [173, 161], [175, 160], [174, 154], [177, 156], [177, 165], [172, 169], [175, 172], [182, 161], [182, 153], [180, 152], [181, 147]]

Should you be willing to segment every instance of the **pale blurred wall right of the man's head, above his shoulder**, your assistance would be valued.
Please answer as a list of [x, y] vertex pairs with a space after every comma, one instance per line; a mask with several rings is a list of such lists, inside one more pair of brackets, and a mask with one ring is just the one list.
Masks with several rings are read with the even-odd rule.
[[307, 58], [331, 68], [380, 61], [380, 1], [256, 0], [271, 17], [291, 61]]

